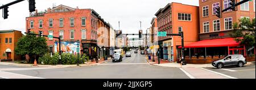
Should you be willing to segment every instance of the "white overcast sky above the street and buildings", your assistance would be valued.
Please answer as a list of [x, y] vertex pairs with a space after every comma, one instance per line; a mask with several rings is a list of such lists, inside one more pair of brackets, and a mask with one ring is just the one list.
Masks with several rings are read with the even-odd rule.
[[[0, 5], [13, 1], [15, 0], [0, 0]], [[118, 29], [118, 21], [120, 21], [120, 29], [123, 33], [138, 33], [139, 21], [141, 21], [145, 33], [159, 8], [171, 2], [199, 6], [198, 0], [36, 0], [36, 9], [47, 10], [48, 7], [52, 8], [53, 3], [56, 6], [92, 8], [101, 18], [112, 24], [114, 29]], [[0, 14], [2, 15], [2, 10]], [[2, 16], [0, 17], [0, 30], [16, 29], [24, 33], [27, 16], [29, 16], [28, 0], [10, 6], [8, 19], [4, 20]]]

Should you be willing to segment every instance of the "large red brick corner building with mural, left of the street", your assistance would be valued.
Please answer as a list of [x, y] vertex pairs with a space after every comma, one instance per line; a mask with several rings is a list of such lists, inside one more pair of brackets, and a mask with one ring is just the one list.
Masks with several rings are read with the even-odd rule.
[[[26, 18], [26, 29], [43, 35], [61, 38], [61, 50], [64, 53], [76, 52], [79, 46], [82, 53], [102, 57], [108, 55], [104, 49], [110, 45], [110, 24], [106, 23], [93, 9], [79, 9], [64, 5], [48, 8], [45, 12], [37, 10]], [[56, 38], [47, 38], [52, 53], [59, 52]], [[91, 58], [92, 58], [91, 57]]]

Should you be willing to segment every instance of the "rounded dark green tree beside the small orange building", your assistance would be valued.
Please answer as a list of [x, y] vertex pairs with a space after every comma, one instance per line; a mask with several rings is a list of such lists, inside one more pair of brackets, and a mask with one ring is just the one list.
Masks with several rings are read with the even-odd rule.
[[35, 35], [23, 36], [17, 42], [15, 53], [18, 55], [28, 54], [36, 59], [37, 55], [44, 55], [49, 51], [46, 41], [46, 38]]

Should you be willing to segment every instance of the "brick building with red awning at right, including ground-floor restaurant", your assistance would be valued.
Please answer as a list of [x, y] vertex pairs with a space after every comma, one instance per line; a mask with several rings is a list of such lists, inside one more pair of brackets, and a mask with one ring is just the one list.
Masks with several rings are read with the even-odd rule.
[[245, 46], [230, 37], [233, 23], [241, 18], [255, 18], [255, 0], [238, 6], [237, 11], [222, 12], [222, 18], [218, 18], [215, 7], [224, 10], [230, 7], [229, 3], [230, 0], [199, 0], [200, 41], [185, 45], [189, 49], [185, 53], [188, 63], [211, 63], [228, 54], [255, 54], [254, 47], [246, 50]]

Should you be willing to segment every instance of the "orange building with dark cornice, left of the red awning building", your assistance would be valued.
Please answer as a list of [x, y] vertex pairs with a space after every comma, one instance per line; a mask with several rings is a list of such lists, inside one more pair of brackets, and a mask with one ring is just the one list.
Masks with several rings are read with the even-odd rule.
[[[190, 44], [199, 40], [199, 7], [184, 5], [182, 3], [168, 3], [164, 8], [156, 12], [158, 31], [171, 33], [184, 32], [184, 44]], [[160, 58], [176, 62], [181, 56], [181, 37], [159, 37]]]

